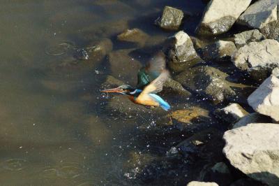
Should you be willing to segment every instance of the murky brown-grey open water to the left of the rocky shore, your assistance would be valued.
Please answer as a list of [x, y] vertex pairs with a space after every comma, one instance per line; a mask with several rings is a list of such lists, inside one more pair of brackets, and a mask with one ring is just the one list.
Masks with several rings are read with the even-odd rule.
[[172, 35], [153, 26], [165, 5], [193, 15], [184, 26], [193, 34], [204, 8], [193, 0], [0, 2], [1, 185], [142, 185], [125, 178], [123, 163], [149, 141], [135, 116], [103, 109], [100, 83], [110, 71], [72, 50], [100, 37], [128, 48], [115, 41], [125, 28]]

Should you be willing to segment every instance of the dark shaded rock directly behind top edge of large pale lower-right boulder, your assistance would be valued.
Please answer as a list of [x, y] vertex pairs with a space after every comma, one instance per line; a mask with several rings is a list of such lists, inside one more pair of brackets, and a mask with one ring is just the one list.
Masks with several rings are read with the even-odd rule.
[[242, 117], [238, 122], [234, 124], [232, 127], [233, 129], [244, 127], [250, 123], [257, 123], [257, 122], [271, 122], [270, 117], [266, 117], [265, 115], [261, 115], [259, 113], [250, 113], [244, 117]]

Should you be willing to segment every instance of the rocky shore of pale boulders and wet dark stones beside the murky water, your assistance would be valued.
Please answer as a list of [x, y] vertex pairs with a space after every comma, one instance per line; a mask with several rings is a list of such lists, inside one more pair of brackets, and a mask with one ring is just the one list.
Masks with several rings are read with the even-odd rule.
[[133, 117], [143, 136], [145, 148], [130, 153], [123, 176], [146, 185], [279, 185], [279, 1], [204, 3], [195, 35], [183, 30], [193, 15], [166, 5], [154, 24], [172, 36], [128, 27], [114, 42], [130, 48], [112, 50], [106, 39], [89, 53], [111, 72], [101, 88], [135, 84], [138, 69], [158, 49], [172, 73], [161, 93], [172, 104], [169, 113], [122, 96], [104, 107]]

